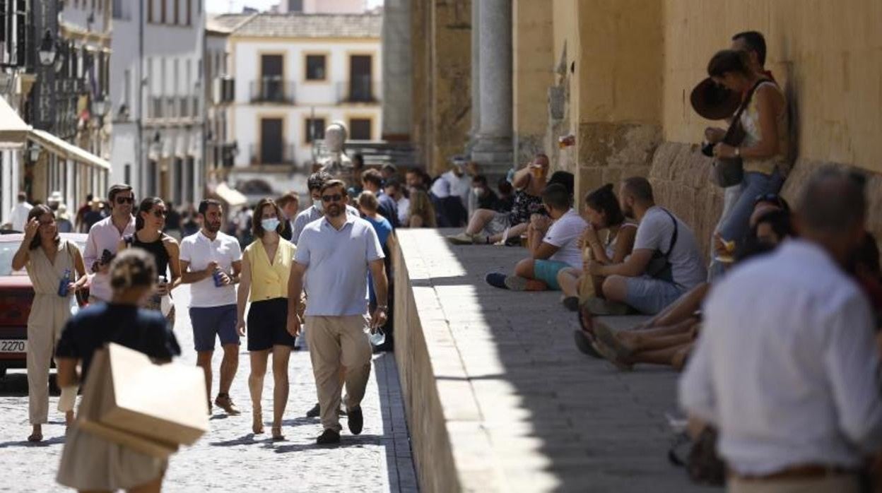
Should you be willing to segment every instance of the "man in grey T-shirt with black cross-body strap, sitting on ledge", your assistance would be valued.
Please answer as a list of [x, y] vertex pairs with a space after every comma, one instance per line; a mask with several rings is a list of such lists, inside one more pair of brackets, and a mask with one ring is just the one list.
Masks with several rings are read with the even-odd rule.
[[621, 305], [624, 303], [653, 315], [704, 282], [705, 266], [691, 228], [667, 209], [655, 205], [653, 188], [646, 178], [624, 180], [619, 200], [624, 214], [639, 220], [634, 250], [621, 264], [587, 262], [587, 273], [606, 278], [598, 293], [605, 300], [591, 298], [587, 309], [594, 315], [621, 314], [626, 312]]

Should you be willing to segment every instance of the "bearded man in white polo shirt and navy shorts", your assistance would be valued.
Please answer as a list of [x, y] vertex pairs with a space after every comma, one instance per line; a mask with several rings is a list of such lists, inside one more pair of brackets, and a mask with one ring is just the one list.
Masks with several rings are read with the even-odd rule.
[[[229, 387], [239, 368], [239, 334], [236, 332], [235, 283], [242, 272], [242, 250], [235, 237], [221, 233], [223, 209], [217, 200], [199, 203], [202, 229], [181, 240], [181, 278], [191, 284], [190, 319], [196, 364], [206, 374], [206, 395], [212, 395], [214, 340], [221, 339], [221, 388], [214, 404], [228, 415], [238, 415]], [[212, 408], [208, 402], [209, 411]]]

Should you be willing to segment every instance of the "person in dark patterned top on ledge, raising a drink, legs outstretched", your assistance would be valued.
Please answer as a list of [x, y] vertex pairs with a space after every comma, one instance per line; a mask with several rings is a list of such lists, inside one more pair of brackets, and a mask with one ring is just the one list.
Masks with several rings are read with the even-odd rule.
[[534, 214], [548, 215], [542, 207], [542, 190], [548, 183], [548, 170], [548, 156], [536, 154], [534, 160], [512, 178], [515, 192], [509, 213], [478, 209], [472, 215], [466, 231], [447, 236], [447, 240], [453, 244], [493, 244], [501, 241], [506, 231], [508, 238], [517, 238], [526, 232]]

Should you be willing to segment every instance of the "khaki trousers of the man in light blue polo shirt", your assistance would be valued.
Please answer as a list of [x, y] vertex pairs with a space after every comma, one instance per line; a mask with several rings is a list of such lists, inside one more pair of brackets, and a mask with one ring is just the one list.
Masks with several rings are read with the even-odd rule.
[[316, 377], [322, 427], [340, 431], [340, 366], [346, 367], [347, 409], [358, 407], [370, 377], [370, 341], [364, 333], [364, 317], [306, 317], [306, 341], [310, 346], [312, 373]]

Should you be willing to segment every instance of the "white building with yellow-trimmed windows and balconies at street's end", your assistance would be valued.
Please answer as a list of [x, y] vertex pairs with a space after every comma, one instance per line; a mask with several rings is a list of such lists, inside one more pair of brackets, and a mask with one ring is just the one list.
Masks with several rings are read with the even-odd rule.
[[[220, 16], [233, 25], [228, 63], [235, 79], [226, 111], [237, 153], [228, 176], [246, 193], [303, 188], [325, 127], [342, 122], [351, 142], [380, 138], [382, 16]], [[299, 182], [298, 182], [299, 180]]]

